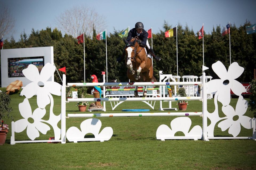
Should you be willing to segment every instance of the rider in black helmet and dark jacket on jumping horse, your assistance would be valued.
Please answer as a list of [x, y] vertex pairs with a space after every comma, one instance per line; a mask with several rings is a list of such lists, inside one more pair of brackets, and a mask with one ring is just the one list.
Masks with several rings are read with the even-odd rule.
[[[151, 55], [155, 58], [156, 61], [160, 61], [161, 58], [159, 56], [156, 56], [153, 49], [150, 47], [149, 45], [149, 41], [147, 40], [147, 36], [149, 34], [147, 33], [147, 31], [145, 31], [144, 29], [144, 25], [142, 24], [142, 22], [137, 22], [135, 24], [135, 28], [131, 29], [128, 33], [127, 36], [127, 41], [130, 41], [132, 39], [132, 37], [138, 37], [138, 43], [140, 45], [143, 46], [147, 46], [147, 48], [149, 49], [149, 52], [151, 53]], [[125, 48], [123, 49], [123, 54], [121, 57], [117, 58], [117, 62], [121, 62], [123, 60], [123, 58], [125, 57]]]

